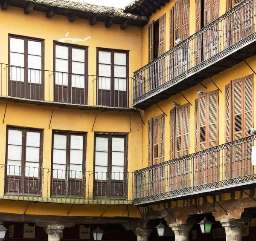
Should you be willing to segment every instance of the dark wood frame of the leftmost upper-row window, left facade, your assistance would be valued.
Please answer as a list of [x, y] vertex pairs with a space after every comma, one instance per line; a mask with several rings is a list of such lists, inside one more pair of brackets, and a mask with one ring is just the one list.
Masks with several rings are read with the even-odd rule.
[[[11, 80], [11, 38], [16, 38], [20, 40], [24, 40], [24, 67], [19, 67], [20, 69], [24, 69], [24, 82], [21, 81], [12, 81]], [[28, 82], [28, 41], [35, 41], [41, 43], [41, 84], [29, 83]], [[33, 55], [38, 56], [38, 55]], [[22, 35], [15, 35], [15, 34], [8, 34], [8, 72], [9, 72], [9, 95], [12, 97], [20, 97], [20, 98], [28, 98], [28, 99], [35, 99], [35, 100], [44, 100], [44, 39], [22, 36]], [[12, 82], [15, 85], [15, 89], [11, 87]], [[17, 82], [20, 82], [18, 84]], [[23, 89], [18, 89], [19, 87], [22, 88], [22, 83], [25, 84]], [[18, 85], [18, 86], [17, 86]], [[36, 93], [36, 86], [39, 86], [39, 96]], [[25, 89], [24, 89], [25, 88]], [[29, 89], [32, 88], [32, 91]], [[18, 90], [17, 90], [18, 89]], [[35, 96], [34, 96], [35, 93]]]

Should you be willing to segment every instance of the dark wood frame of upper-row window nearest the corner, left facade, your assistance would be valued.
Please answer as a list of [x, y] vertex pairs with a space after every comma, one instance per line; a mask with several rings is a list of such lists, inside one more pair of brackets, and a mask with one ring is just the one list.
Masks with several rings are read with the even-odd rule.
[[[105, 63], [99, 63], [99, 52], [111, 52], [111, 77], [110, 77], [110, 90], [109, 90], [109, 97], [107, 97], [107, 89], [99, 89], [99, 64], [102, 65], [109, 65], [109, 64], [105, 64]], [[115, 76], [114, 76], [114, 66], [124, 66], [124, 65], [118, 65], [114, 63], [114, 54], [115, 53], [122, 53], [122, 54], [126, 54], [126, 91], [119, 91], [119, 90], [115, 90]], [[121, 49], [106, 49], [106, 48], [97, 48], [97, 57], [96, 57], [96, 64], [97, 64], [97, 68], [96, 68], [96, 72], [97, 72], [97, 93], [96, 93], [96, 98], [97, 98], [97, 105], [103, 105], [103, 106], [111, 106], [111, 107], [128, 107], [129, 106], [129, 51], [128, 50], [121, 50]], [[102, 76], [104, 77], [104, 76]], [[123, 77], [116, 77], [119, 79], [123, 79]], [[101, 92], [101, 93], [100, 93]], [[116, 93], [117, 92], [117, 93]], [[117, 96], [117, 101], [115, 101], [116, 99], [116, 95], [122, 94], [126, 92], [126, 97], [125, 95], [123, 95], [123, 97]], [[105, 98], [104, 98], [105, 96]], [[121, 101], [121, 103], [119, 103], [119, 101]], [[127, 102], [127, 103], [126, 103]]]

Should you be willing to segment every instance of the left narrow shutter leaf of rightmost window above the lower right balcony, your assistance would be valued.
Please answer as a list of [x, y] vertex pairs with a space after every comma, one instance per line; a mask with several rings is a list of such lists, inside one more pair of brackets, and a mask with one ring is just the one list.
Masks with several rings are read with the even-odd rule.
[[231, 83], [225, 86], [225, 142], [232, 141], [232, 94]]

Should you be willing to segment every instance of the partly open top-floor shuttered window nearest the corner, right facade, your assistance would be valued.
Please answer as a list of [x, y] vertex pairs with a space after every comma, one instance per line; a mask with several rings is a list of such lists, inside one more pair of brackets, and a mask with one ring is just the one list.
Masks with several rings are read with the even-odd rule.
[[166, 14], [148, 25], [148, 63], [165, 53]]

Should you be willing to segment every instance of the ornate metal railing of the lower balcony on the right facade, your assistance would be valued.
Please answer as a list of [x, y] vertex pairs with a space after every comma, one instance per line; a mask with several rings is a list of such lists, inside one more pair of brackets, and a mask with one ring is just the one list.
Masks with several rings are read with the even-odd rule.
[[256, 182], [256, 137], [233, 141], [134, 172], [134, 204]]

